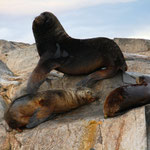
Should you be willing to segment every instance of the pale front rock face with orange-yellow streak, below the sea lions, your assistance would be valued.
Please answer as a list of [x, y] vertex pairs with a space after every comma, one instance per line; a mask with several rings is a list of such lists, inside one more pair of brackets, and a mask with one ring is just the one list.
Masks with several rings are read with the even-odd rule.
[[147, 148], [144, 108], [132, 110], [119, 118], [105, 120], [102, 125], [99, 124], [101, 117], [94, 115], [92, 118], [88, 116], [73, 119], [70, 116], [65, 118], [61, 116], [61, 119], [49, 121], [33, 130], [17, 133], [15, 137], [22, 145], [20, 149], [142, 150]]

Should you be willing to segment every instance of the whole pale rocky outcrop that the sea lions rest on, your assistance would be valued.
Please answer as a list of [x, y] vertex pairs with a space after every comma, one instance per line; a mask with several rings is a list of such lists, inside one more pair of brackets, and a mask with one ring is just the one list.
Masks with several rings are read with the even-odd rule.
[[[134, 42], [131, 42], [131, 39], [117, 40], [126, 54], [129, 70], [137, 73], [124, 75], [119, 73], [114, 78], [97, 82], [92, 90], [99, 93], [100, 99], [98, 101], [59, 115], [54, 120], [42, 123], [34, 129], [24, 130], [22, 133], [15, 130], [8, 132], [3, 114], [8, 103], [15, 97], [25, 94], [24, 87], [39, 56], [34, 44], [0, 41], [0, 149], [150, 149], [149, 105], [130, 110], [115, 118], [104, 119], [103, 117], [103, 102], [109, 92], [121, 85], [135, 83], [136, 76], [139, 76], [140, 73], [149, 74], [150, 70], [149, 58], [145, 55], [148, 49], [145, 47], [142, 49], [142, 45], [140, 45], [141, 47], [134, 45], [136, 42], [139, 44], [144, 40], [133, 40]], [[130, 45], [129, 48], [135, 47], [135, 51], [130, 51], [129, 48], [125, 49], [124, 43]], [[145, 41], [145, 43], [149, 43], [149, 41]], [[136, 51], [136, 48], [141, 49], [141, 51], [139, 49]], [[143, 70], [140, 70], [140, 67]], [[40, 90], [74, 88], [75, 84], [82, 78], [84, 76], [73, 77], [53, 71], [40, 87]]]

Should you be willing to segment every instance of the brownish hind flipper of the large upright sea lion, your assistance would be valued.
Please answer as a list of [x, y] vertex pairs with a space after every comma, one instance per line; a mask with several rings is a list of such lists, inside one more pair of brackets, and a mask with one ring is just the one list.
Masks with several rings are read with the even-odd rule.
[[117, 72], [117, 69], [115, 66], [96, 71], [92, 74], [89, 74], [83, 80], [79, 81], [77, 83], [77, 87], [80, 87], [80, 86], [81, 87], [91, 87], [99, 80], [113, 77], [116, 74], [116, 72]]

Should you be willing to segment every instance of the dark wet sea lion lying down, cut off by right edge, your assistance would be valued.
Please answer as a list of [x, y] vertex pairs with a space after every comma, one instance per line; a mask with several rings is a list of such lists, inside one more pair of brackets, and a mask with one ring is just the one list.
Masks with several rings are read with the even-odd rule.
[[121, 86], [113, 90], [104, 102], [104, 117], [114, 117], [125, 111], [150, 103], [150, 84], [139, 78], [139, 84]]

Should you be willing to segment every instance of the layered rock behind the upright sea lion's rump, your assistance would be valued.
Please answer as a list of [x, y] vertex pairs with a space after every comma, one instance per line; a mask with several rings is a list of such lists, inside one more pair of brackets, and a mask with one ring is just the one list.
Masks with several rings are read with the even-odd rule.
[[114, 41], [125, 55], [128, 71], [150, 74], [150, 40], [115, 38]]

